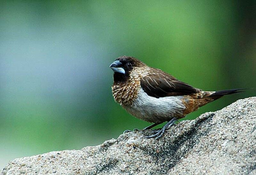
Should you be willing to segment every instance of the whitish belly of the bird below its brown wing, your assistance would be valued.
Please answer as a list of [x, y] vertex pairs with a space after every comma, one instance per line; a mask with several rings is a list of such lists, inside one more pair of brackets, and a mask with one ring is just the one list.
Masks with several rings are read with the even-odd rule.
[[182, 96], [155, 98], [148, 96], [146, 92], [140, 89], [133, 105], [124, 106], [124, 108], [141, 120], [162, 123], [171, 120], [173, 117], [182, 116], [185, 106], [181, 98]]

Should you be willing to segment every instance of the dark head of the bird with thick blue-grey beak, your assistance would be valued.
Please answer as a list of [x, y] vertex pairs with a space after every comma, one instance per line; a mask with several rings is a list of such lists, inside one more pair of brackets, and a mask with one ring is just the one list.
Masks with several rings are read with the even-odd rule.
[[146, 64], [134, 57], [120, 56], [109, 67], [114, 71], [114, 82], [124, 82], [134, 70], [145, 66]]

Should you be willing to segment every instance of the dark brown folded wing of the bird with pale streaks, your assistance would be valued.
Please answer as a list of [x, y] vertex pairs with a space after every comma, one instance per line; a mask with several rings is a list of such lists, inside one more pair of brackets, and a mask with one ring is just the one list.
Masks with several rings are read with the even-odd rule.
[[189, 84], [183, 83], [159, 69], [140, 80], [141, 88], [152, 97], [167, 97], [188, 95], [201, 91]]

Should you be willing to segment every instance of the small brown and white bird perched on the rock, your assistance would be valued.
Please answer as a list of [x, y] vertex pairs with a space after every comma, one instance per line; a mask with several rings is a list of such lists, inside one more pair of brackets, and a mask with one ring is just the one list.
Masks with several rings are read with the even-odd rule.
[[167, 122], [145, 138], [159, 139], [177, 120], [199, 107], [224, 95], [243, 92], [243, 89], [203, 91], [132, 56], [120, 56], [109, 67], [114, 71], [111, 87], [114, 100], [134, 117], [153, 123], [143, 130]]

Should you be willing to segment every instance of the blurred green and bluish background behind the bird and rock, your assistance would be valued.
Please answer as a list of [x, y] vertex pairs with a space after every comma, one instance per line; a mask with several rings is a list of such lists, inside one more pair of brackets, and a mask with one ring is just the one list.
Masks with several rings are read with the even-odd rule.
[[[135, 56], [197, 88], [256, 87], [254, 1], [0, 3], [0, 168], [149, 123], [112, 98], [109, 64]], [[255, 90], [188, 115], [216, 111]]]

